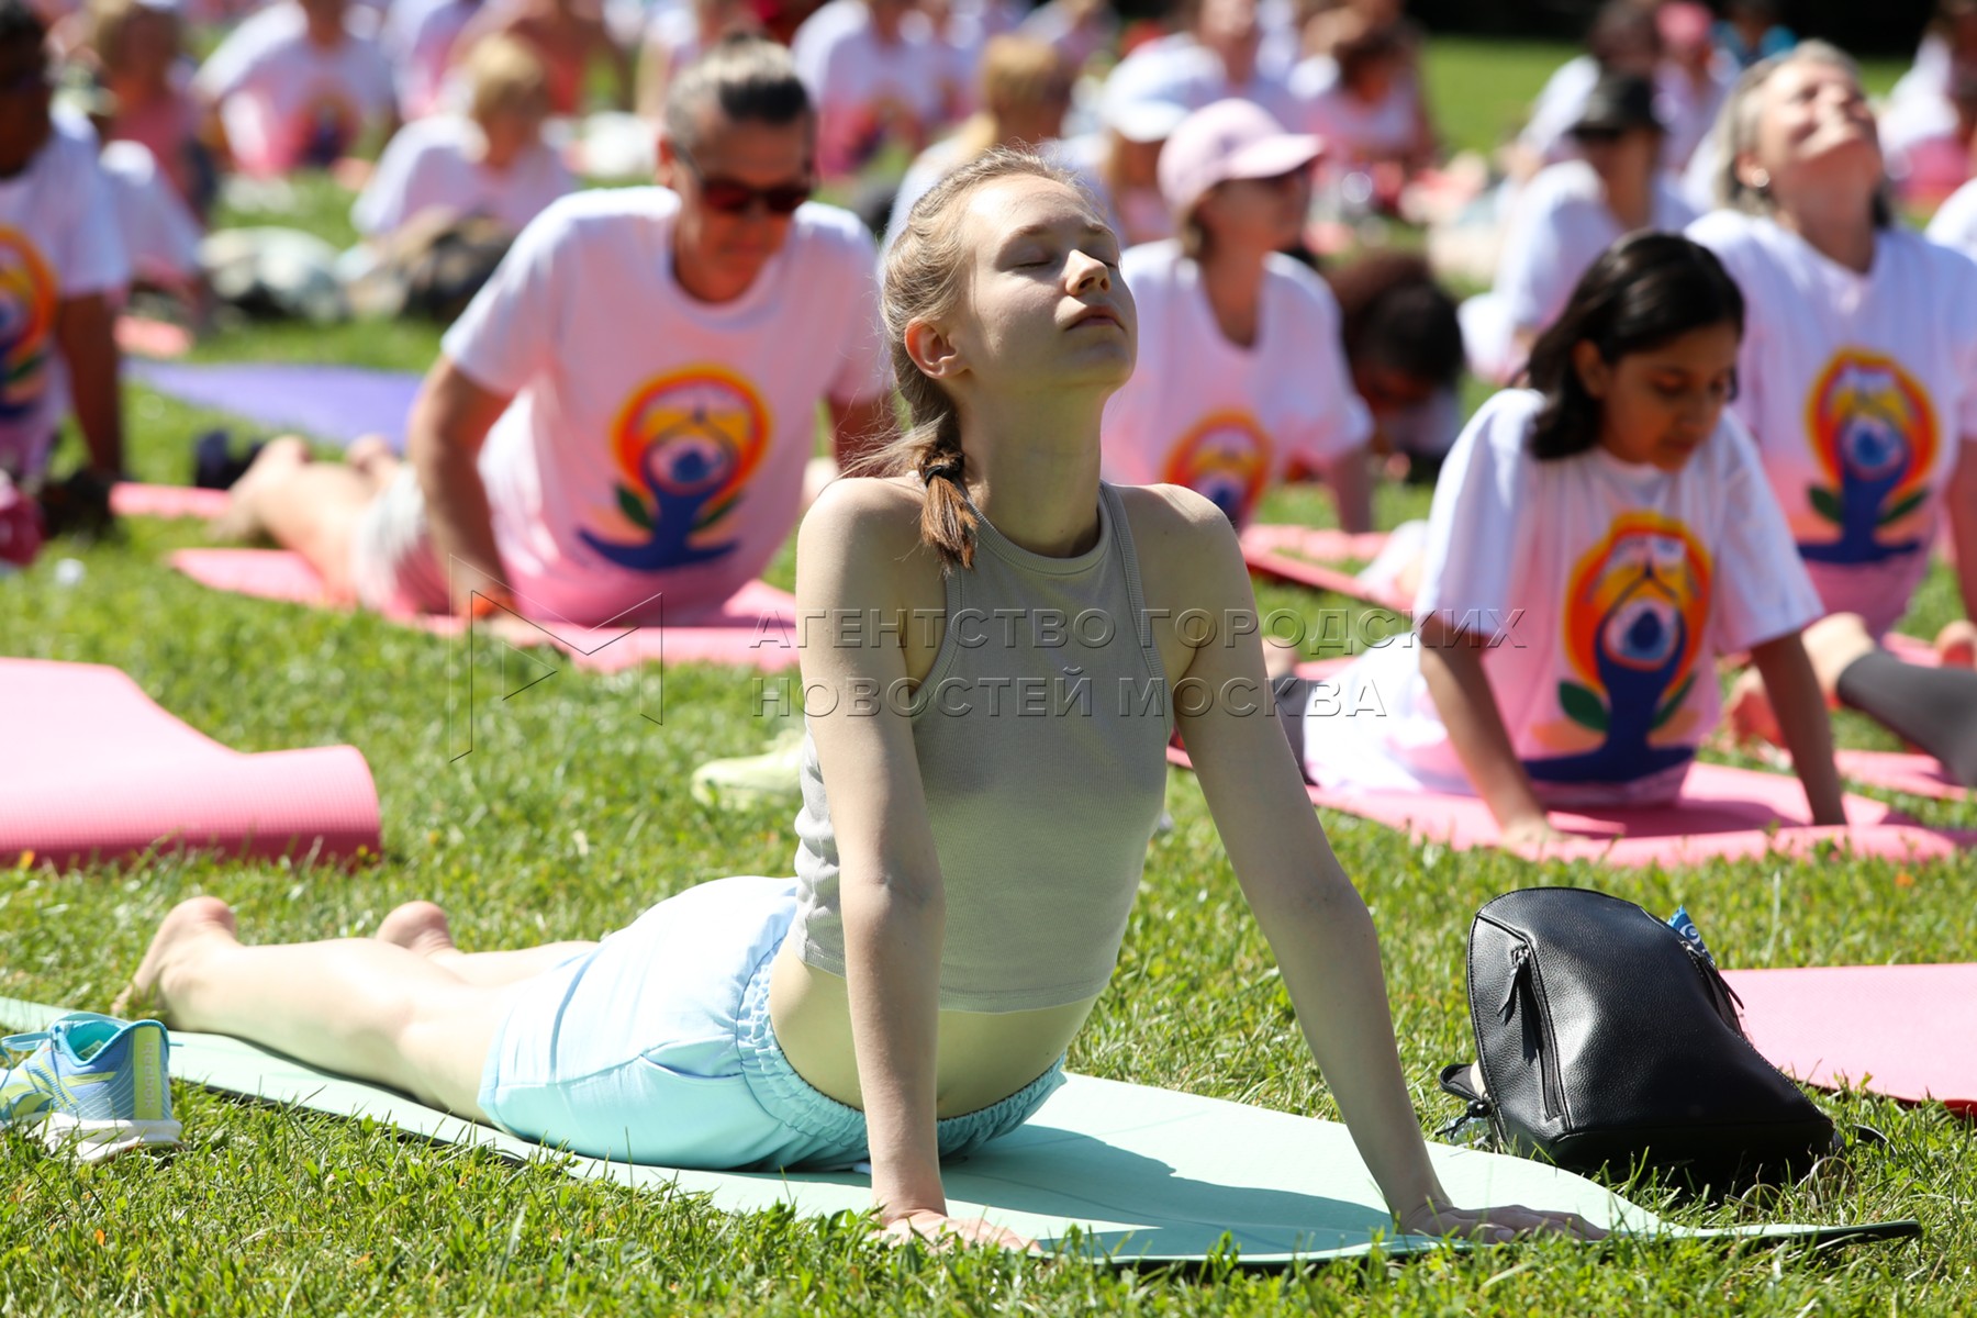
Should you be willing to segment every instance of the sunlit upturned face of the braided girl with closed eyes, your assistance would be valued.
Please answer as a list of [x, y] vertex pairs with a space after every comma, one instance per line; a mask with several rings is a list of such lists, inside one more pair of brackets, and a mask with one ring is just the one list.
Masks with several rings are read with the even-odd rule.
[[1119, 239], [1083, 196], [1048, 178], [1002, 178], [975, 190], [959, 223], [971, 253], [961, 306], [907, 328], [915, 360], [939, 364], [929, 375], [996, 393], [1109, 393], [1127, 381], [1139, 316], [1119, 279]]

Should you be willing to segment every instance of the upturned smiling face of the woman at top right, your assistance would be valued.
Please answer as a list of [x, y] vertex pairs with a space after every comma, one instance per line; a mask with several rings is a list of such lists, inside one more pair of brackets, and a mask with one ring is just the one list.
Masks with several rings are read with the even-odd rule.
[[1852, 73], [1799, 59], [1758, 89], [1754, 150], [1738, 160], [1746, 184], [1769, 176], [1779, 204], [1809, 188], [1880, 184], [1880, 136], [1874, 111]]

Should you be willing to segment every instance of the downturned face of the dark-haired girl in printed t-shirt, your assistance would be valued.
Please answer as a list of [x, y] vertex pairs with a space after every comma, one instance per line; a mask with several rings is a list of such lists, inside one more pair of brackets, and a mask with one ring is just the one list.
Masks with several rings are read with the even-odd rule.
[[1619, 362], [1605, 362], [1580, 340], [1572, 366], [1599, 399], [1599, 445], [1621, 462], [1680, 470], [1722, 419], [1736, 389], [1736, 352], [1730, 322], [1688, 330]]

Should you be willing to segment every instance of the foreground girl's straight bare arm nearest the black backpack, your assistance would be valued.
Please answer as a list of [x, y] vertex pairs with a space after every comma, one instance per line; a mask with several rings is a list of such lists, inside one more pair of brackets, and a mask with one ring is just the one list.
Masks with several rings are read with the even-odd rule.
[[[1232, 618], [1255, 611], [1249, 573], [1228, 522], [1206, 500], [1174, 492], [1186, 535], [1160, 547], [1153, 571], [1174, 573], [1176, 601]], [[1174, 711], [1202, 794], [1244, 897], [1283, 968], [1311, 1055], [1352, 1142], [1408, 1231], [1504, 1239], [1532, 1229], [1593, 1227], [1524, 1207], [1457, 1209], [1427, 1160], [1394, 1043], [1372, 917], [1319, 826], [1289, 741], [1277, 725], [1255, 628], [1222, 626], [1194, 650], [1174, 686]]]

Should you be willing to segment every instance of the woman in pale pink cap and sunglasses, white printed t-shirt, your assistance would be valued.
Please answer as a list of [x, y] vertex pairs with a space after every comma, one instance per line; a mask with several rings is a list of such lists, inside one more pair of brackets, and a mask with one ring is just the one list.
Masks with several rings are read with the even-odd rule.
[[1319, 138], [1249, 101], [1194, 111], [1160, 150], [1180, 237], [1135, 247], [1139, 371], [1105, 409], [1105, 478], [1166, 480], [1238, 528], [1291, 466], [1319, 472], [1338, 526], [1372, 530], [1372, 417], [1346, 373], [1338, 302], [1281, 255], [1311, 204]]

